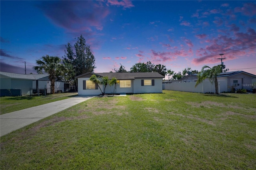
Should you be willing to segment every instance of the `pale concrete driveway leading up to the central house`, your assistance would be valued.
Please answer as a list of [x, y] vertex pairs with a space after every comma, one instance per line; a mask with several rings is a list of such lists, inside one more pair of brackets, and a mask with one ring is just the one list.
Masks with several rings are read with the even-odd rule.
[[92, 97], [94, 96], [79, 95], [71, 97], [70, 99], [55, 101], [0, 115], [0, 136], [4, 136], [14, 130], [30, 125], [40, 119], [44, 119], [78, 103], [91, 99]]

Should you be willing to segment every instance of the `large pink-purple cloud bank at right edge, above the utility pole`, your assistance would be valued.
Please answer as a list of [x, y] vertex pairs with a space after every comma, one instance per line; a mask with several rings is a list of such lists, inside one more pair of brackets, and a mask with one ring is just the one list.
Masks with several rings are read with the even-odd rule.
[[224, 53], [227, 59], [244, 57], [245, 54], [255, 54], [256, 32], [254, 29], [248, 28], [246, 33], [234, 32], [232, 38], [219, 35], [209, 43], [210, 45], [196, 51], [196, 55], [200, 57], [193, 59], [193, 64], [218, 63], [220, 61], [217, 58], [220, 52]]

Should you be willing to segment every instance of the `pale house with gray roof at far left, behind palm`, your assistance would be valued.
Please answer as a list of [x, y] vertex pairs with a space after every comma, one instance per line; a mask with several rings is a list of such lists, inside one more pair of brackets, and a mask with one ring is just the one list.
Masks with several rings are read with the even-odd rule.
[[[32, 95], [36, 89], [47, 89], [50, 93], [48, 74], [17, 74], [0, 71], [0, 89], [21, 89], [22, 95]], [[34, 89], [34, 91], [33, 91]], [[64, 91], [64, 82], [55, 82], [55, 92]], [[1, 95], [2, 96], [2, 95]]]

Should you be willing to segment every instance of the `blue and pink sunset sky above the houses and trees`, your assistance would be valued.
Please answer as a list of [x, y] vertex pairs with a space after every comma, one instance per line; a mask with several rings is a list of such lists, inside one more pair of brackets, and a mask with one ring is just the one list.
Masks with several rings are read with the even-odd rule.
[[[0, 1], [0, 70], [36, 73], [36, 60], [64, 57], [82, 35], [95, 73], [151, 61], [178, 73], [221, 64], [256, 75], [256, 2]], [[75, 50], [74, 50], [75, 51]]]

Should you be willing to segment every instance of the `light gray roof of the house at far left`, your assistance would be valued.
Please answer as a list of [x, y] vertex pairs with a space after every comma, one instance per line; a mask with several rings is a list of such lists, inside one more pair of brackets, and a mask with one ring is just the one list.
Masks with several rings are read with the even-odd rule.
[[13, 79], [28, 79], [28, 80], [36, 80], [43, 77], [48, 77], [48, 74], [17, 74], [17, 73], [8, 73], [0, 71], [0, 75], [4, 75], [6, 77], [10, 77]]

